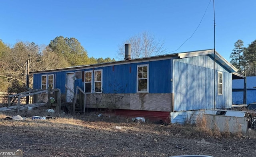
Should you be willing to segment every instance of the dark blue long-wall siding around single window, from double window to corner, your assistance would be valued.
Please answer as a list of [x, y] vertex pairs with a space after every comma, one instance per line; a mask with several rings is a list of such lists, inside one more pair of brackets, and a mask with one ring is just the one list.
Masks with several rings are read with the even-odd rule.
[[137, 65], [148, 64], [149, 92], [171, 93], [171, 60], [102, 67], [103, 93], [136, 93]]

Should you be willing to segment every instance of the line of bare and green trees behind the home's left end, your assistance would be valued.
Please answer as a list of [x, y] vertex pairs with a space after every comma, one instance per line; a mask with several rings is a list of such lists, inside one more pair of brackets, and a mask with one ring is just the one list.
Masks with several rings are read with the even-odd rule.
[[[87, 51], [74, 37], [55, 37], [48, 45], [18, 41], [13, 47], [0, 39], [0, 91], [13, 86], [26, 90], [26, 63], [30, 71], [42, 71], [115, 61], [111, 58], [88, 57]], [[30, 76], [32, 83], [32, 76]], [[31, 86], [30, 86], [31, 87]], [[22, 92], [22, 91], [19, 91]]]

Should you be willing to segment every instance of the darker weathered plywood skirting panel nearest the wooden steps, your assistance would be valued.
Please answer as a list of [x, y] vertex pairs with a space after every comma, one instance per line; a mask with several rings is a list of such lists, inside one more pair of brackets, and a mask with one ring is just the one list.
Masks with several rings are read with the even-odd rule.
[[87, 108], [130, 109], [130, 94], [86, 94]]

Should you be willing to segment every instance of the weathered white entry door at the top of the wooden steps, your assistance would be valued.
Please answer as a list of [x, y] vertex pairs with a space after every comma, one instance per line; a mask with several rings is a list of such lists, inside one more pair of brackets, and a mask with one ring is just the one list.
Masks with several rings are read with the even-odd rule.
[[74, 73], [66, 74], [66, 102], [73, 102], [75, 79]]

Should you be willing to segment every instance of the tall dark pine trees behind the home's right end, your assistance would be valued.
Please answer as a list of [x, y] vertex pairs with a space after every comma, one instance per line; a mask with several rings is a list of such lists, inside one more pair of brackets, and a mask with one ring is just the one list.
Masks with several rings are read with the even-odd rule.
[[230, 63], [238, 69], [239, 74], [256, 76], [256, 40], [245, 47], [244, 42], [238, 39], [230, 53], [230, 58]]

